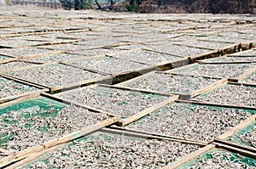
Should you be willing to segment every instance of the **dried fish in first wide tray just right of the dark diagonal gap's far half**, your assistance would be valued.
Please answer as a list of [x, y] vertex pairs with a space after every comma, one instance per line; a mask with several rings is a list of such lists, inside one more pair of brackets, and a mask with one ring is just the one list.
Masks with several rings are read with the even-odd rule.
[[254, 64], [195, 65], [181, 70], [174, 70], [174, 72], [189, 76], [238, 78], [248, 70], [252, 69], [253, 66]]

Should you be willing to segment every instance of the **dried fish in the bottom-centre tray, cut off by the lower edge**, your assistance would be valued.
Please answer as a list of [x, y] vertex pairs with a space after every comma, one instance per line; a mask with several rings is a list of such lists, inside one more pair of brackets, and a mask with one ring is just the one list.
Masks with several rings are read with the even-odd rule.
[[121, 135], [74, 142], [23, 168], [158, 168], [195, 151], [197, 145]]

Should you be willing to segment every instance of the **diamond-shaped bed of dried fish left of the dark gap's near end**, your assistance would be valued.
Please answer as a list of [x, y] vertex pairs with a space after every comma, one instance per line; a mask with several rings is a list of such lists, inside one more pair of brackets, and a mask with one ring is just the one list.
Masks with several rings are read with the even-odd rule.
[[85, 80], [102, 77], [102, 75], [74, 68], [68, 65], [47, 65], [38, 66], [27, 70], [9, 71], [12, 76], [17, 76], [26, 81], [35, 82], [46, 87], [56, 87], [70, 84], [72, 82], [82, 82]]

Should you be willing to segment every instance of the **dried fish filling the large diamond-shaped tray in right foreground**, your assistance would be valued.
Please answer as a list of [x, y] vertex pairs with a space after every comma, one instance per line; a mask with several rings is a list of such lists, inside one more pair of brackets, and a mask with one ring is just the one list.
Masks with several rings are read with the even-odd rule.
[[170, 104], [126, 127], [209, 142], [250, 115], [243, 110]]

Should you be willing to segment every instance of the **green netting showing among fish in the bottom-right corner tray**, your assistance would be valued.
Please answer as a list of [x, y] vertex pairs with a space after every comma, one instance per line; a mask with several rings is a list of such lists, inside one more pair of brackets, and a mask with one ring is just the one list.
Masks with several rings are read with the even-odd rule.
[[[232, 163], [237, 163], [237, 164], [246, 164], [247, 166], [254, 166], [256, 164], [256, 159], [244, 156], [244, 155], [239, 155], [239, 154], [235, 154], [235, 153], [231, 153], [229, 151], [226, 151], [224, 149], [211, 149], [209, 150], [207, 153], [203, 154], [203, 155], [199, 155], [197, 156], [195, 159], [193, 159], [192, 161], [189, 161], [187, 163], [185, 163], [182, 166], [177, 167], [177, 169], [183, 169], [183, 168], [192, 168], [192, 166], [194, 166], [196, 163], [200, 162], [202, 159], [204, 161], [207, 160], [219, 160], [219, 161], [226, 161], [226, 156], [223, 155], [219, 155], [218, 159], [214, 158], [214, 154], [225, 154], [225, 155], [230, 155], [230, 159], [229, 161]], [[212, 168], [214, 168], [214, 166], [212, 166]], [[243, 168], [246, 168], [245, 166]]]

